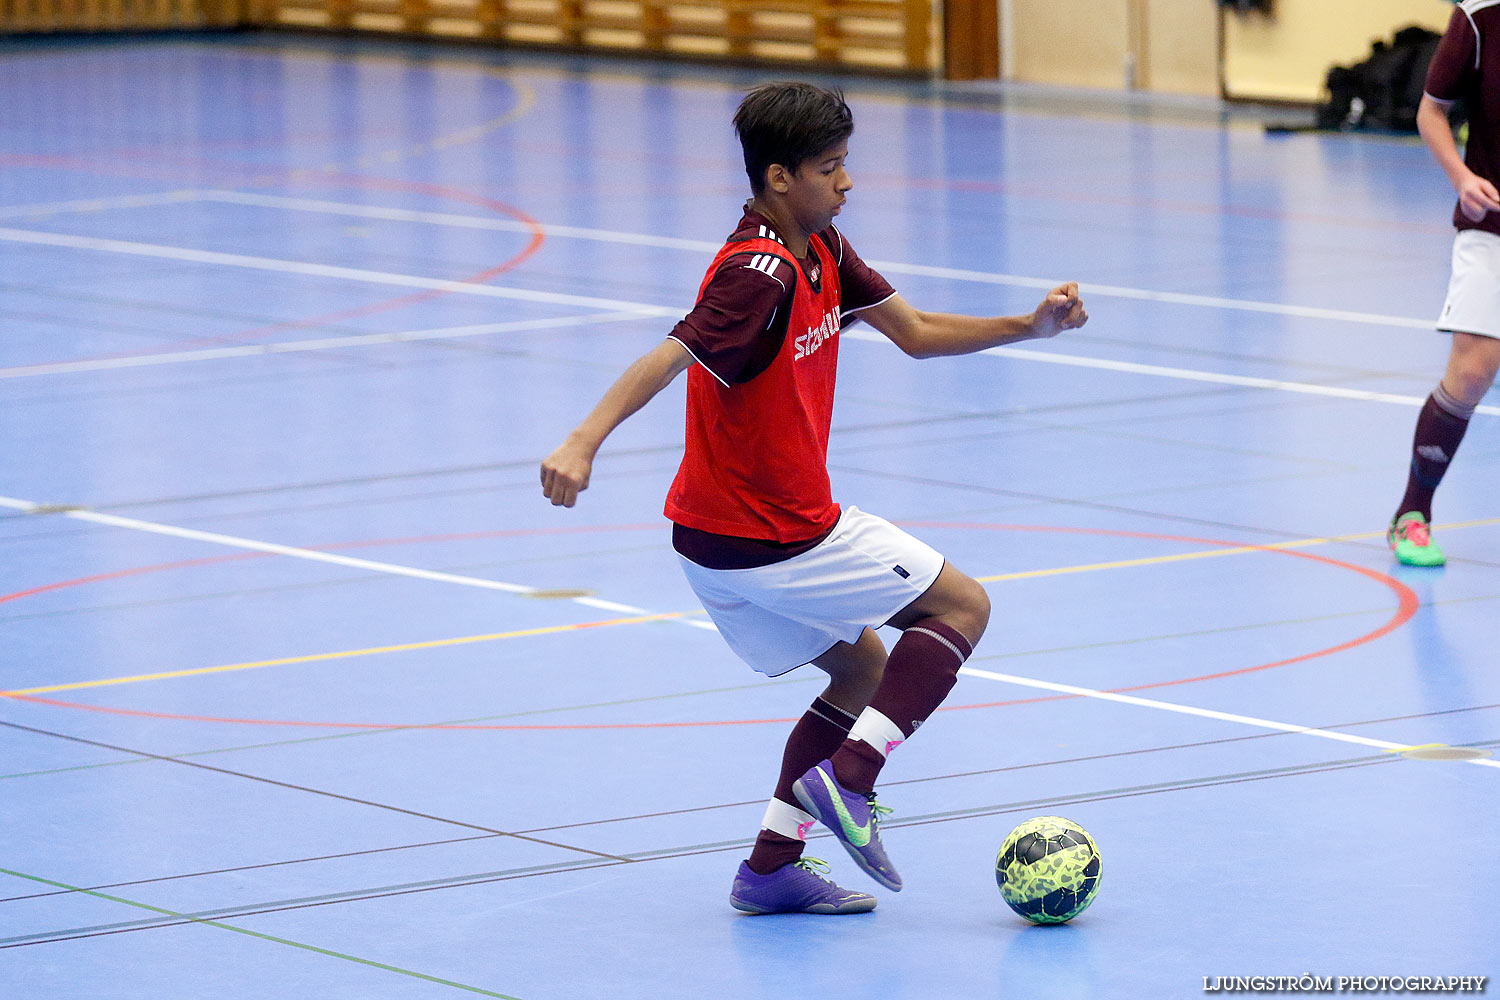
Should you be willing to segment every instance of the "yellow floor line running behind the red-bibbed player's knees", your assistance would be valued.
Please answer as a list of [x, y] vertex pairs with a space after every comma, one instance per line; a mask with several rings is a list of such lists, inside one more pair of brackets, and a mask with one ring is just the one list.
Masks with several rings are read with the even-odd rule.
[[[1484, 520], [1464, 520], [1452, 525], [1434, 525], [1444, 531], [1452, 531], [1456, 528], [1480, 528], [1486, 525], [1500, 525], [1500, 517], [1486, 517]], [[1384, 531], [1365, 531], [1354, 535], [1332, 535], [1329, 538], [1298, 538], [1296, 541], [1275, 541], [1264, 546], [1236, 546], [1233, 549], [1203, 549], [1198, 552], [1180, 552], [1168, 556], [1146, 556], [1143, 559], [1120, 559], [1118, 562], [1090, 562], [1086, 565], [1074, 567], [1056, 567], [1052, 570], [1024, 570], [1020, 573], [1002, 573], [999, 576], [981, 576], [976, 577], [980, 583], [1000, 583], [1005, 580], [1028, 580], [1048, 576], [1064, 576], [1068, 573], [1092, 573], [1096, 570], [1124, 570], [1130, 567], [1143, 565], [1161, 565], [1167, 562], [1184, 562], [1186, 559], [1208, 559], [1212, 556], [1233, 556], [1245, 555], [1251, 552], [1264, 552], [1266, 549], [1296, 549], [1305, 546], [1322, 546], [1335, 541], [1359, 541], [1364, 538], [1378, 538], [1383, 537]], [[640, 622], [660, 622], [670, 621], [675, 618], [688, 618], [693, 615], [702, 615], [700, 610], [693, 612], [662, 612], [658, 615], [638, 615], [634, 618], [609, 618], [597, 622], [578, 622], [573, 625], [546, 625], [543, 628], [522, 628], [508, 633], [489, 633], [484, 636], [459, 636], [456, 639], [430, 639], [428, 642], [411, 642], [396, 646], [370, 646], [368, 649], [344, 649], [340, 652], [315, 652], [306, 657], [284, 657], [280, 660], [254, 660], [250, 663], [228, 663], [218, 667], [195, 667], [190, 670], [170, 670], [165, 673], [138, 673], [128, 678], [106, 678], [104, 681], [75, 681], [72, 684], [54, 684], [40, 688], [20, 688], [15, 691], [0, 691], [0, 697], [22, 697], [28, 694], [54, 694], [57, 691], [78, 691], [82, 688], [102, 688], [116, 687], [120, 684], [138, 684], [141, 681], [168, 681], [171, 678], [192, 678], [206, 673], [230, 673], [234, 670], [255, 670], [260, 667], [280, 667], [294, 663], [320, 663], [324, 660], [346, 660], [350, 657], [368, 657], [382, 652], [408, 652], [412, 649], [440, 649], [442, 646], [462, 646], [476, 642], [495, 642], [500, 639], [524, 639], [526, 636], [548, 636], [566, 631], [580, 631], [585, 628], [608, 628], [612, 625], [636, 625]]]

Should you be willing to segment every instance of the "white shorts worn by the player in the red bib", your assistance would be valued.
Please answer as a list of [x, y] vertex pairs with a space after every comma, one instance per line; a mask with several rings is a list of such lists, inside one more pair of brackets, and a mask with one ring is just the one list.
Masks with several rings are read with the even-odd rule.
[[844, 507], [816, 547], [782, 562], [708, 570], [678, 561], [735, 655], [772, 678], [879, 628], [921, 597], [944, 564], [936, 549], [858, 507]]

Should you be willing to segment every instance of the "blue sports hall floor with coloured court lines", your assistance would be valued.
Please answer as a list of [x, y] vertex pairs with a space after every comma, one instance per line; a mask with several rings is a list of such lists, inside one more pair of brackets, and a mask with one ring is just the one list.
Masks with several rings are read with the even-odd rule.
[[[0, 46], [0, 996], [1144, 1000], [1500, 973], [1500, 399], [1383, 529], [1446, 342], [1413, 139], [842, 78], [836, 495], [994, 604], [882, 801], [906, 891], [728, 906], [820, 690], [738, 663], [662, 498], [682, 381], [537, 465], [693, 301], [776, 72], [314, 36]], [[1030, 816], [1072, 924], [1000, 901]], [[812, 853], [873, 889], [825, 838]]]

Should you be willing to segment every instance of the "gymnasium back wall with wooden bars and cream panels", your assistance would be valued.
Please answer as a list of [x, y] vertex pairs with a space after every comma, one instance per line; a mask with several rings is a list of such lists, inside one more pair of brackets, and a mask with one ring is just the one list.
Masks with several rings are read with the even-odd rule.
[[[946, 0], [958, 10], [957, 0]], [[1335, 63], [1406, 24], [1442, 30], [1449, 0], [974, 0], [1006, 79], [1314, 102]], [[945, 0], [0, 0], [0, 33], [322, 27], [735, 60], [940, 72]], [[966, 15], [969, 16], [969, 15]], [[964, 24], [948, 27], [948, 43]], [[981, 39], [982, 42], [982, 39]], [[980, 48], [986, 48], [981, 43]], [[1221, 64], [1222, 52], [1222, 64]], [[964, 73], [968, 75], [968, 73]]]

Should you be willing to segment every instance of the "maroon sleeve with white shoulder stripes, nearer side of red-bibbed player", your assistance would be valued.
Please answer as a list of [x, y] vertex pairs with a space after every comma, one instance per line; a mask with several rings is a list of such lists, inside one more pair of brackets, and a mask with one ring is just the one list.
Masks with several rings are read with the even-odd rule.
[[774, 253], [736, 253], [668, 336], [724, 385], [747, 382], [782, 348], [794, 280], [792, 265]]

